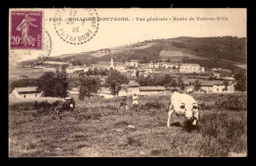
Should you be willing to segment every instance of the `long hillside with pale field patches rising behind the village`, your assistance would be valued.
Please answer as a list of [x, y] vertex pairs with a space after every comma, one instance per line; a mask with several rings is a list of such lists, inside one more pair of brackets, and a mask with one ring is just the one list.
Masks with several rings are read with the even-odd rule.
[[[96, 51], [49, 57], [47, 60], [68, 62], [73, 65], [84, 65], [95, 64], [100, 61], [110, 61], [111, 57], [113, 57], [114, 61], [119, 62], [129, 61], [130, 59], [137, 59], [142, 62], [181, 59], [185, 62], [198, 61], [209, 65], [211, 64], [209, 61], [217, 62], [226, 60], [224, 63], [219, 63], [219, 67], [220, 64], [224, 66], [225, 63], [235, 66], [246, 64], [246, 38], [231, 36], [182, 36], [168, 39], [154, 39], [118, 47], [103, 48]], [[211, 64], [212, 66], [215, 66], [215, 64]]]

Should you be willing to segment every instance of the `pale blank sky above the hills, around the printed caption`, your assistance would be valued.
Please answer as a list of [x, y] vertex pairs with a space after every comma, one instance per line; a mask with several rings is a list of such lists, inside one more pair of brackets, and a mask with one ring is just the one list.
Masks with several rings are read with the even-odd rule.
[[[35, 9], [36, 10], [36, 9]], [[38, 9], [37, 9], [38, 10]], [[65, 42], [57, 34], [53, 22], [56, 9], [40, 9], [44, 12], [43, 27], [48, 31], [52, 41], [50, 56], [69, 53], [80, 53], [110, 48], [147, 39], [172, 38], [178, 36], [207, 37], [232, 35], [246, 37], [246, 9], [96, 9], [98, 18], [129, 18], [130, 21], [100, 21], [96, 35], [88, 42], [73, 45]], [[85, 9], [76, 9], [78, 17], [86, 13]], [[80, 14], [80, 15], [79, 15]], [[151, 21], [149, 18], [167, 18], [168, 21]], [[189, 18], [227, 18], [227, 21], [189, 21]], [[136, 21], [136, 18], [145, 18], [145, 21]], [[187, 18], [187, 21], [173, 21], [173, 18]], [[134, 20], [132, 20], [134, 19]], [[34, 56], [17, 54], [24, 60]]]

